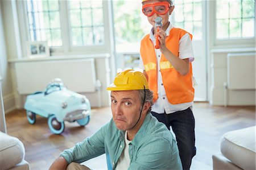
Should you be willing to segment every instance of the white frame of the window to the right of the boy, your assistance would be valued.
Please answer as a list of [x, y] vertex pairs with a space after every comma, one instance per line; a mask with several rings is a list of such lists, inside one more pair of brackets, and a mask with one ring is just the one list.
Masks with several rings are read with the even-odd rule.
[[[217, 13], [217, 4], [216, 1], [208, 1], [209, 9], [209, 32], [210, 39], [212, 39], [213, 47], [225, 47], [225, 48], [243, 48], [243, 47], [254, 47], [255, 45], [255, 36], [256, 36], [256, 23], [255, 23], [255, 5], [254, 3], [254, 37], [253, 38], [227, 38], [227, 39], [217, 39], [217, 22], [216, 22], [216, 13]], [[212, 28], [211, 28], [212, 27]]]

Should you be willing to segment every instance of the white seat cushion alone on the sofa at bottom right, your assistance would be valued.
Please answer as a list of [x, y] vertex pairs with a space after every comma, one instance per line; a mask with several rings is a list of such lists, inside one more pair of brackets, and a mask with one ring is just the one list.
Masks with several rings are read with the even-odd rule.
[[230, 131], [221, 138], [221, 152], [242, 169], [255, 169], [255, 128]]

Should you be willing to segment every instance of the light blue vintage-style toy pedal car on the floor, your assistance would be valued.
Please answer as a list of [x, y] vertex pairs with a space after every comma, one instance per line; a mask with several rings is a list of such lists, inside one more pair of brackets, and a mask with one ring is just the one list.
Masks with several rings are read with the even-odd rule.
[[85, 126], [90, 121], [89, 100], [65, 88], [59, 78], [51, 81], [44, 92], [28, 95], [24, 108], [31, 124], [35, 123], [36, 114], [48, 118], [49, 129], [54, 134], [64, 131], [64, 121], [76, 121], [80, 126]]

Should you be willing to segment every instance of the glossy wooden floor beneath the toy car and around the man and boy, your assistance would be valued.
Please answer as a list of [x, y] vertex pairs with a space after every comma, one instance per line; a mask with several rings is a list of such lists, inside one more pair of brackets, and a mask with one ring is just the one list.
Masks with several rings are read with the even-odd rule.
[[[191, 169], [212, 169], [212, 154], [220, 152], [219, 140], [225, 132], [255, 125], [255, 107], [221, 107], [208, 103], [195, 103], [197, 154]], [[65, 122], [65, 131], [54, 135], [49, 131], [47, 119], [36, 117], [30, 125], [25, 110], [15, 110], [6, 115], [7, 133], [19, 138], [25, 147], [25, 159], [31, 169], [48, 169], [60, 152], [92, 135], [112, 118], [109, 107], [93, 109], [89, 124]], [[85, 163], [92, 169], [106, 169], [105, 155]]]

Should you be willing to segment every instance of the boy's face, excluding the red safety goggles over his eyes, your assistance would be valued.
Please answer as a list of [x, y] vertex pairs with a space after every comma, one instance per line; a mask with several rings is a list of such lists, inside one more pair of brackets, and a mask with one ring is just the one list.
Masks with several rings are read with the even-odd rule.
[[[148, 5], [148, 4], [158, 3], [158, 2], [163, 2], [163, 1], [159, 1], [159, 0], [145, 1], [145, 2], [143, 3], [143, 6], [144, 6], [144, 5]], [[168, 27], [168, 24], [169, 24], [169, 16], [171, 15], [172, 10], [174, 10], [174, 6], [172, 6], [172, 7], [168, 10], [168, 12], [167, 12], [166, 14], [160, 15], [160, 14], [154, 13], [152, 16], [147, 16], [148, 22], [149, 22], [153, 27], [155, 27], [155, 18], [158, 17], [158, 16], [160, 16], [160, 17], [163, 19], [163, 30], [166, 30], [166, 28]]]

